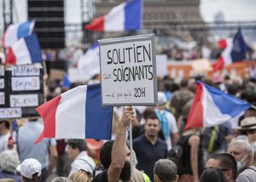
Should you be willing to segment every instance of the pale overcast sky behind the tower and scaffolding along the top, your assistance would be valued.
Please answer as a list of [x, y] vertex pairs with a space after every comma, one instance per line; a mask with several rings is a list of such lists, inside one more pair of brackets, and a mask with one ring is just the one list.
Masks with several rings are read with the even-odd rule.
[[[17, 8], [19, 21], [25, 21], [26, 0], [14, 0]], [[66, 22], [79, 23], [81, 21], [80, 0], [65, 0]], [[78, 10], [74, 10], [78, 9]], [[241, 21], [256, 20], [256, 0], [201, 0], [201, 16], [203, 20], [211, 22], [214, 14], [222, 12], [224, 20]]]

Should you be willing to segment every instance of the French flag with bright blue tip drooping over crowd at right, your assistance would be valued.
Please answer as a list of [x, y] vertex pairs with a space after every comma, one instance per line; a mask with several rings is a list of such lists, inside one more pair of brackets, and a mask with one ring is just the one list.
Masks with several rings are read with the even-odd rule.
[[231, 118], [246, 111], [250, 106], [244, 100], [200, 82], [197, 85], [185, 129], [212, 127], [229, 122]]

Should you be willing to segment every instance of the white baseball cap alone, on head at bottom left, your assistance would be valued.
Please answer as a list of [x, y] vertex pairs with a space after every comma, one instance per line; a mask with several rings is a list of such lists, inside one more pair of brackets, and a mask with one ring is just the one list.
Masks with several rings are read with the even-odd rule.
[[22, 176], [32, 179], [32, 175], [34, 173], [38, 173], [38, 176], [41, 175], [42, 165], [37, 159], [28, 158], [24, 160], [24, 162], [20, 163], [16, 169]]

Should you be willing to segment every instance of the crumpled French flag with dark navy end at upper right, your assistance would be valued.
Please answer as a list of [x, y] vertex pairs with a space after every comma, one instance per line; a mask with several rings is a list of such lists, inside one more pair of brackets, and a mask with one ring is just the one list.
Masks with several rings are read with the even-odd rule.
[[234, 39], [222, 39], [218, 42], [220, 48], [224, 48], [218, 60], [212, 64], [213, 71], [224, 68], [224, 65], [230, 65], [233, 62], [246, 59], [247, 46], [239, 28]]

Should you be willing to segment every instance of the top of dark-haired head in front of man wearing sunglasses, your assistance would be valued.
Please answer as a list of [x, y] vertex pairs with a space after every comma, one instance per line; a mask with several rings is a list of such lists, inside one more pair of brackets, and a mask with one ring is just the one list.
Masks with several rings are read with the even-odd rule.
[[207, 168], [201, 174], [200, 182], [225, 182], [224, 173], [218, 168]]

